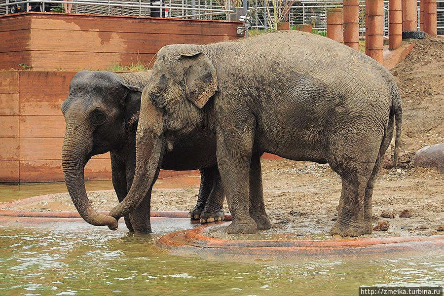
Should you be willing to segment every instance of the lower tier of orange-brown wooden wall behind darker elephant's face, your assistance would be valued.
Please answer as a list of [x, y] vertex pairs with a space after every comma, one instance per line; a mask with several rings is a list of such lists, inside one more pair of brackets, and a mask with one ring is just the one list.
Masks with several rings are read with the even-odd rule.
[[[0, 182], [63, 181], [60, 105], [75, 73], [0, 72]], [[86, 180], [110, 178], [109, 153], [94, 156], [85, 167]]]

